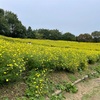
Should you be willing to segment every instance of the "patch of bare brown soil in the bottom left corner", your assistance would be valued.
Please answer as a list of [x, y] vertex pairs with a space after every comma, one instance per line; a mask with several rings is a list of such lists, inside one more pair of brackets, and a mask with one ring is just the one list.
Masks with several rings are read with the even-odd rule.
[[[0, 100], [16, 100], [16, 97], [24, 95], [25, 89], [26, 84], [24, 82], [18, 82], [0, 87]], [[9, 99], [3, 99], [6, 97]]]

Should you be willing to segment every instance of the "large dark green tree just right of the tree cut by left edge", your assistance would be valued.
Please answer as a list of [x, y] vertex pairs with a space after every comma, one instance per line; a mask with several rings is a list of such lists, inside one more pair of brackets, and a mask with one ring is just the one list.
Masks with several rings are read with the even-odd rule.
[[5, 12], [5, 19], [10, 27], [9, 36], [11, 37], [25, 37], [26, 35], [26, 28], [22, 25], [21, 21], [18, 20], [17, 15], [6, 11]]

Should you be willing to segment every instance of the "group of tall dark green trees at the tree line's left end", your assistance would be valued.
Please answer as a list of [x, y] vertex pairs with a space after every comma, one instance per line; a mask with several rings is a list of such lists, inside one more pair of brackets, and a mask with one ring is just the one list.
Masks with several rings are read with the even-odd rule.
[[0, 34], [23, 38], [26, 35], [26, 28], [18, 20], [16, 14], [0, 9]]

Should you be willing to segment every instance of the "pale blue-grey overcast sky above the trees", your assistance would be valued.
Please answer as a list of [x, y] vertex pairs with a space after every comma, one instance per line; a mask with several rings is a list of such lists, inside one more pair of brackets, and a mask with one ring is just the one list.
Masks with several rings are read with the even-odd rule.
[[0, 0], [26, 28], [58, 29], [74, 35], [100, 30], [100, 0]]

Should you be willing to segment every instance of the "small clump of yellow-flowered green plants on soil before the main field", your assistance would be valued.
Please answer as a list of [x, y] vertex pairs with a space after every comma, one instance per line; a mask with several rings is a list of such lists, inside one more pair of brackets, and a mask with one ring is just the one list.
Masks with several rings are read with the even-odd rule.
[[27, 79], [28, 89], [26, 90], [26, 95], [28, 98], [39, 99], [40, 97], [45, 96], [48, 93], [46, 73], [47, 69], [33, 69], [30, 72], [30, 75]]

